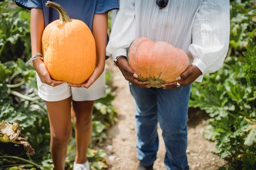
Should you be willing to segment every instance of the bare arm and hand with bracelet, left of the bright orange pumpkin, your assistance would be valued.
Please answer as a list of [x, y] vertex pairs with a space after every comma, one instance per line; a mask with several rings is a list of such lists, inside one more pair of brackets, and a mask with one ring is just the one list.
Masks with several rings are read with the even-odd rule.
[[[42, 32], [44, 32], [45, 29], [45, 21], [44, 14], [41, 9], [32, 8], [30, 15], [31, 54], [34, 56], [36, 53], [42, 53], [41, 37]], [[33, 65], [42, 83], [46, 83], [51, 86], [57, 86], [63, 83], [62, 81], [55, 81], [51, 79], [42, 60], [33, 60]]]

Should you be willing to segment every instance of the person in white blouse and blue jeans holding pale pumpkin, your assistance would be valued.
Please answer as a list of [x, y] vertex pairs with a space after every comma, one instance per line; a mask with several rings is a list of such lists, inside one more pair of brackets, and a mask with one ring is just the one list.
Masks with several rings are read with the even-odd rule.
[[[162, 129], [167, 169], [189, 169], [187, 110], [190, 85], [218, 70], [229, 45], [228, 0], [120, 0], [112, 18], [106, 54], [113, 57], [136, 102], [138, 169], [153, 169], [158, 151], [157, 124]], [[139, 37], [165, 41], [181, 48], [190, 58], [176, 82], [151, 88], [129, 66], [127, 49]], [[147, 87], [147, 88], [146, 88]]]

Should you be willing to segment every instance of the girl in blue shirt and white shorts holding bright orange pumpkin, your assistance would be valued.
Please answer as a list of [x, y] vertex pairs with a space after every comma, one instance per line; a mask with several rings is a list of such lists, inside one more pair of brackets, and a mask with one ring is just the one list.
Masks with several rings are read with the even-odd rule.
[[[59, 18], [56, 9], [45, 7], [47, 1], [16, 0], [17, 5], [31, 9], [32, 56], [41, 53], [41, 37], [44, 28]], [[51, 79], [41, 59], [33, 60], [37, 73], [38, 95], [46, 101], [51, 133], [51, 155], [54, 169], [63, 170], [67, 145], [71, 137], [71, 118], [75, 124], [77, 155], [74, 169], [89, 170], [86, 153], [92, 133], [94, 100], [105, 94], [105, 47], [107, 41], [108, 11], [118, 9], [118, 0], [57, 0], [70, 18], [80, 19], [91, 29], [95, 38], [97, 62], [92, 76], [79, 85]], [[79, 42], [77, 42], [79, 43]]]

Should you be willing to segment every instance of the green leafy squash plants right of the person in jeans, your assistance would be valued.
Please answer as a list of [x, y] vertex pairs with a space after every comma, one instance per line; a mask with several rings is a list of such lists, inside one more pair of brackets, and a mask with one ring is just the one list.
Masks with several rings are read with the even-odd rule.
[[253, 1], [230, 3], [230, 44], [223, 67], [191, 89], [190, 107], [209, 114], [206, 139], [228, 160], [221, 169], [256, 169], [256, 45]]

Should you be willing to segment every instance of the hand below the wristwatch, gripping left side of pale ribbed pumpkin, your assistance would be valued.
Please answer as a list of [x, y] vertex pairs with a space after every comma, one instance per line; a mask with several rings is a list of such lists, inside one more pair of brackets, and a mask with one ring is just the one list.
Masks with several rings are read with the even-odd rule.
[[129, 81], [130, 83], [142, 87], [142, 88], [148, 88], [150, 87], [150, 84], [148, 84], [148, 81], [141, 82], [137, 79], [138, 75], [135, 73], [135, 71], [130, 67], [126, 57], [121, 56], [118, 58], [116, 65], [122, 72], [122, 75], [124, 78]]

